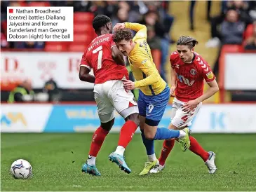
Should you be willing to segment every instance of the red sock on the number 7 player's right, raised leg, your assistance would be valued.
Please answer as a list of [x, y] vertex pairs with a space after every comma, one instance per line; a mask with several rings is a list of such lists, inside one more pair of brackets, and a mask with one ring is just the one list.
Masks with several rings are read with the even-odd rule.
[[133, 139], [134, 132], [137, 130], [137, 125], [133, 121], [126, 121], [121, 128], [120, 137], [119, 137], [119, 146], [126, 146]]

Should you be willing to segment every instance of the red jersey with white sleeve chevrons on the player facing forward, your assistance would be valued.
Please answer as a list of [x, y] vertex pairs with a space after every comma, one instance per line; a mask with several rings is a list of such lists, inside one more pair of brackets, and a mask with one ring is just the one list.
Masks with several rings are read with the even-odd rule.
[[203, 95], [203, 79], [206, 82], [215, 80], [212, 69], [197, 53], [194, 53], [191, 63], [184, 63], [175, 51], [170, 55], [170, 64], [177, 74], [175, 97], [182, 102], [195, 100]]

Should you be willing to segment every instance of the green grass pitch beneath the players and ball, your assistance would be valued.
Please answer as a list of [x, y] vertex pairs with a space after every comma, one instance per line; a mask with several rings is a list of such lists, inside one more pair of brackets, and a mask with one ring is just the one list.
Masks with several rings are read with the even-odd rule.
[[[176, 143], [163, 172], [140, 177], [147, 156], [139, 134], [126, 149], [132, 170], [126, 174], [108, 159], [119, 139], [109, 134], [96, 160], [102, 176], [93, 177], [81, 173], [92, 133], [2, 133], [1, 191], [256, 191], [256, 135], [193, 136], [217, 154], [216, 174], [208, 174], [201, 158], [183, 153]], [[162, 141], [155, 142], [158, 157], [161, 146]], [[18, 158], [32, 164], [32, 179], [11, 177], [11, 163]]]

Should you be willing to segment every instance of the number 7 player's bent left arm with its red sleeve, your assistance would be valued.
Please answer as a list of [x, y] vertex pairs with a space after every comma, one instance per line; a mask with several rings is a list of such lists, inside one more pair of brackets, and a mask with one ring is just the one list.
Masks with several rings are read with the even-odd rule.
[[81, 81], [86, 81], [89, 83], [95, 82], [95, 76], [92, 76], [90, 73], [90, 65], [88, 64], [88, 61], [86, 60], [86, 53], [83, 54], [80, 69], [79, 69], [79, 78]]

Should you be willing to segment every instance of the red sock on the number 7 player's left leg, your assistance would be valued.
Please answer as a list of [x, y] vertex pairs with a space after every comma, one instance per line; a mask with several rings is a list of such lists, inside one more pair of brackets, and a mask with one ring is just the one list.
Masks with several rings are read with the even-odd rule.
[[97, 128], [93, 134], [93, 140], [90, 144], [90, 156], [97, 156], [97, 153], [99, 153], [100, 148], [105, 140], [105, 137], [107, 136], [109, 132], [107, 130], [100, 128]]

